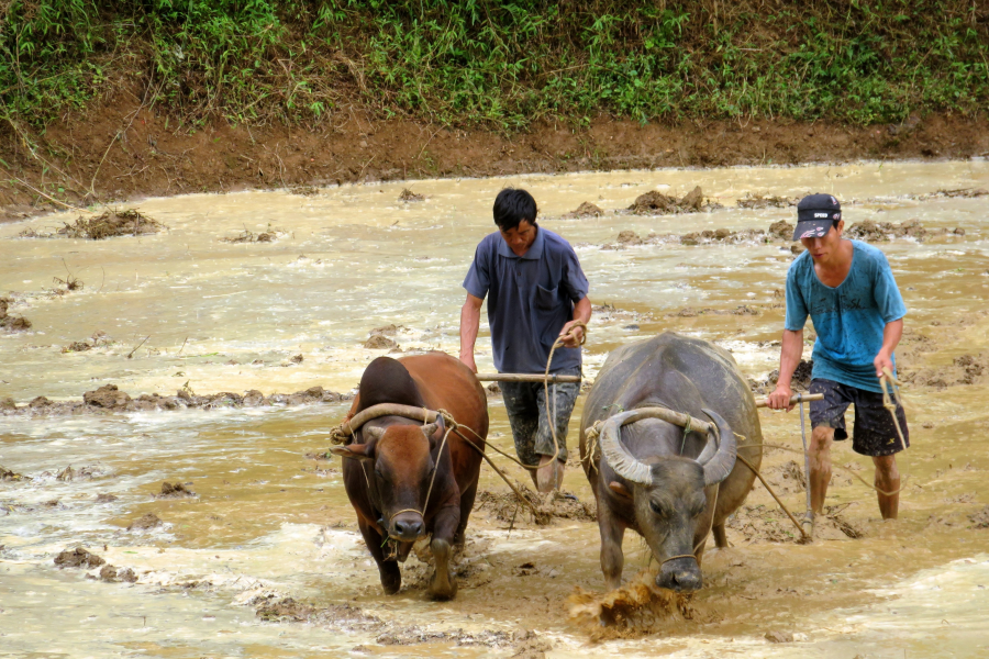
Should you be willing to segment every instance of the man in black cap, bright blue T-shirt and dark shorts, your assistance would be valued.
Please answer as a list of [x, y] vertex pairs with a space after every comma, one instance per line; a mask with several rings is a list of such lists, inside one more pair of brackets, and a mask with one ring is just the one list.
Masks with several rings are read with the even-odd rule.
[[[910, 445], [907, 417], [899, 404], [896, 415], [884, 407], [879, 377], [896, 372], [893, 350], [903, 334], [907, 308], [886, 255], [859, 241], [842, 238], [845, 222], [841, 204], [830, 194], [811, 194], [797, 206], [797, 231], [807, 252], [787, 272], [787, 317], [779, 360], [779, 380], [769, 406], [791, 410], [790, 380], [803, 353], [803, 325], [810, 315], [818, 338], [811, 393], [810, 474], [811, 509], [820, 513], [831, 482], [831, 444], [846, 439], [845, 410], [855, 405], [852, 448], [871, 456], [876, 466], [879, 512], [894, 520], [899, 506], [900, 474], [896, 454]], [[811, 515], [813, 513], [810, 513]]]

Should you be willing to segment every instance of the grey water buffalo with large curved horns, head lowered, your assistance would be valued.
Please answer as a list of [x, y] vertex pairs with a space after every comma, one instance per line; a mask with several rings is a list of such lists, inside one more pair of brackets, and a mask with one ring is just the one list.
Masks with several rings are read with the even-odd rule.
[[[657, 406], [710, 420], [718, 432], [629, 418], [630, 411]], [[587, 431], [598, 421], [603, 422], [600, 437], [591, 443]], [[580, 424], [580, 456], [598, 501], [608, 587], [621, 585], [622, 538], [631, 528], [660, 563], [656, 585], [700, 589], [709, 529], [718, 547], [727, 546], [724, 521], [755, 480], [736, 461], [736, 451], [758, 468], [762, 443], [755, 399], [727, 351], [669, 332], [612, 351]]]

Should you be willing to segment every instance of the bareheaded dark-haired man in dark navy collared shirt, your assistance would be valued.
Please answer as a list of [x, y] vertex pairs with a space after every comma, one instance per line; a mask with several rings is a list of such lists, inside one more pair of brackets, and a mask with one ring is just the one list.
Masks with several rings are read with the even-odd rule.
[[[558, 337], [566, 347], [553, 355], [551, 373], [580, 373], [580, 343], [590, 320], [588, 283], [569, 243], [536, 224], [536, 203], [525, 190], [507, 188], [494, 199], [499, 231], [477, 246], [464, 280], [467, 301], [460, 310], [460, 361], [474, 372], [474, 345], [480, 306], [488, 298], [494, 368], [499, 372], [543, 375]], [[502, 396], [515, 451], [540, 492], [558, 489], [567, 461], [567, 426], [579, 386], [551, 387], [549, 413], [542, 382], [502, 382]], [[551, 420], [555, 418], [553, 439]], [[557, 459], [554, 460], [553, 456]]]

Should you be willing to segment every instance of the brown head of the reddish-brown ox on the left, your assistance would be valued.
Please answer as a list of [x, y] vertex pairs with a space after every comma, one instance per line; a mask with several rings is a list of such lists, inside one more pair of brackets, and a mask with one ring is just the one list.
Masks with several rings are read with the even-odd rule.
[[[443, 438], [442, 418], [423, 426], [365, 425], [364, 444], [336, 446], [332, 451], [343, 458], [360, 460], [368, 476], [371, 501], [381, 513], [378, 523], [392, 538], [413, 541], [425, 535], [422, 518], [430, 481], [440, 456], [433, 457]], [[438, 492], [431, 496], [435, 499]]]

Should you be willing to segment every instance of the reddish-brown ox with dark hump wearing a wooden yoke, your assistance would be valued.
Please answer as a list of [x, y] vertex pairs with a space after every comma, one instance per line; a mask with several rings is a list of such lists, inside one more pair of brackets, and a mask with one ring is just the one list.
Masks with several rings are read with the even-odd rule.
[[[464, 431], [466, 437], [478, 448], [485, 447], [485, 391], [470, 369], [445, 353], [371, 361], [360, 378], [360, 393], [348, 418], [381, 403], [446, 410], [458, 424], [480, 436]], [[387, 594], [398, 592], [402, 584], [396, 561], [404, 562], [413, 543], [429, 534], [436, 562], [430, 595], [449, 599], [457, 592], [449, 570], [452, 546], [464, 541], [481, 456], [456, 433], [449, 433], [443, 446], [444, 435], [442, 420], [422, 425], [403, 416], [382, 416], [357, 429], [352, 444], [333, 449], [349, 458], [343, 461], [344, 487]], [[388, 539], [397, 546], [386, 554]]]

